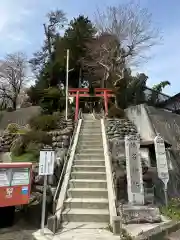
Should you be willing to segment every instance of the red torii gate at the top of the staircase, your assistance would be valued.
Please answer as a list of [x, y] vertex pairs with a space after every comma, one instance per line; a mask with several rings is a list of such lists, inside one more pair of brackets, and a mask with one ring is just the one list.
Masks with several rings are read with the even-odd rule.
[[[94, 97], [104, 98], [104, 108], [105, 114], [108, 113], [108, 98], [113, 97], [112, 90], [107, 88], [95, 88]], [[89, 88], [70, 88], [69, 89], [69, 97], [75, 97], [76, 99], [76, 112], [75, 112], [75, 120], [78, 118], [79, 112], [79, 98], [80, 97], [92, 97], [89, 94]]]

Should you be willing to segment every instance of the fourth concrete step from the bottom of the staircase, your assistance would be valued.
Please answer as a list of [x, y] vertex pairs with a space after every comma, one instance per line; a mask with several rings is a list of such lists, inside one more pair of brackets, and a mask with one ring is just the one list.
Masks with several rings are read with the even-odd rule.
[[70, 188], [107, 188], [106, 180], [98, 179], [71, 179]]

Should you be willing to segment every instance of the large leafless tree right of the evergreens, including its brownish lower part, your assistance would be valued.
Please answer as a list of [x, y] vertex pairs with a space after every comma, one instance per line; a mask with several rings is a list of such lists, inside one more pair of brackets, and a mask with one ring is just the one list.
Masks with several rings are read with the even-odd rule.
[[126, 67], [147, 59], [147, 51], [160, 42], [151, 14], [132, 2], [108, 7], [105, 12], [97, 11], [96, 27], [99, 36], [109, 34], [116, 39], [113, 44], [112, 41], [102, 44], [99, 56], [95, 58], [96, 63], [104, 68], [105, 80], [115, 73], [114, 85], [124, 78]]

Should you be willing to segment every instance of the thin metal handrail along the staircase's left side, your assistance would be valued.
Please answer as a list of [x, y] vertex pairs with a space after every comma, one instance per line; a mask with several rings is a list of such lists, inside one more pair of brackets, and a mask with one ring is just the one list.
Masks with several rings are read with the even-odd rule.
[[[78, 120], [82, 118], [82, 111], [81, 109], [79, 110], [79, 114], [78, 114]], [[64, 175], [65, 175], [65, 172], [66, 172], [66, 168], [67, 168], [67, 163], [68, 163], [68, 158], [70, 156], [70, 152], [71, 152], [71, 148], [72, 148], [72, 144], [73, 144], [73, 141], [74, 141], [74, 136], [76, 134], [76, 130], [77, 130], [77, 126], [78, 126], [78, 120], [76, 121], [75, 123], [75, 127], [74, 127], [74, 131], [73, 131], [73, 134], [72, 134], [72, 137], [71, 137], [71, 140], [70, 140], [70, 144], [69, 144], [69, 147], [68, 147], [68, 150], [67, 150], [67, 154], [66, 156], [64, 157], [64, 163], [63, 163], [63, 169], [62, 169], [62, 172], [61, 172], [61, 176], [59, 178], [59, 182], [58, 182], [58, 185], [57, 185], [57, 188], [56, 188], [56, 192], [54, 194], [54, 198], [53, 198], [53, 214], [55, 214], [56, 212], [56, 201], [57, 201], [57, 196], [60, 192], [60, 189], [61, 189], [61, 185], [62, 185], [62, 181], [64, 179]]]

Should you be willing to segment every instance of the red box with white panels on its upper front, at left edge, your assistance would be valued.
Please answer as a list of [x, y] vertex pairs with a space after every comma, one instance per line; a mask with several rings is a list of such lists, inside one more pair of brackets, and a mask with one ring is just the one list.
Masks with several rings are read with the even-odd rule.
[[28, 204], [32, 163], [0, 163], [0, 207]]

